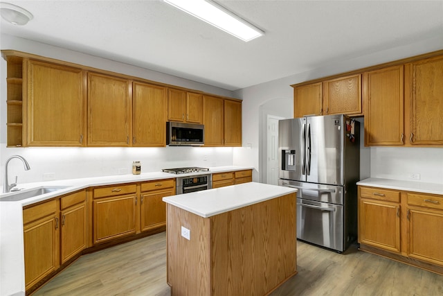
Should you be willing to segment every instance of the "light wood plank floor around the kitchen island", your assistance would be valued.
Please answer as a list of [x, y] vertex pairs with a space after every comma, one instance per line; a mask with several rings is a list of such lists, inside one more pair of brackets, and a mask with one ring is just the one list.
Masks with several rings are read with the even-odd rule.
[[[33, 295], [170, 295], [165, 232], [82, 256]], [[350, 247], [297, 243], [298, 275], [271, 295], [443, 295], [443, 276]]]

